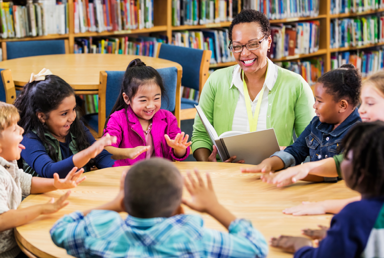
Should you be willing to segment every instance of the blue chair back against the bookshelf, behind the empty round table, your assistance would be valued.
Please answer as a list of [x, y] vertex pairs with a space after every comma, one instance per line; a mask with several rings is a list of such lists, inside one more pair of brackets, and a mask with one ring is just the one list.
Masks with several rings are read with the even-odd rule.
[[65, 54], [64, 40], [7, 42], [7, 59], [55, 54]]

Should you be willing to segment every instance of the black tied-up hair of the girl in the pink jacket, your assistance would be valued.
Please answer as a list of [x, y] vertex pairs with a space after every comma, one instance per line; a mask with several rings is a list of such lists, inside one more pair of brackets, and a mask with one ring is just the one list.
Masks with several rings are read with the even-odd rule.
[[159, 72], [155, 68], [147, 66], [139, 58], [136, 58], [128, 64], [128, 67], [124, 73], [124, 78], [122, 81], [118, 99], [116, 100], [116, 103], [113, 106], [111, 113], [105, 121], [104, 129], [107, 127], [108, 120], [109, 117], [111, 117], [111, 114], [121, 109], [127, 109], [128, 104], [125, 103], [122, 94], [125, 93], [128, 96], [129, 101], [132, 101], [139, 87], [145, 86], [148, 81], [154, 81], [154, 83], [159, 85], [161, 91], [161, 98], [164, 98], [167, 103], [169, 103], [163, 79], [161, 78]]

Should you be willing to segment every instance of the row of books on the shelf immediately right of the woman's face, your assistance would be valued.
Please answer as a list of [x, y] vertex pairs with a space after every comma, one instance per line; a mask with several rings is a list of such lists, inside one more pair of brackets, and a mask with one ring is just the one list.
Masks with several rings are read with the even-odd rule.
[[298, 22], [271, 26], [272, 44], [268, 58], [314, 53], [319, 50], [320, 22]]

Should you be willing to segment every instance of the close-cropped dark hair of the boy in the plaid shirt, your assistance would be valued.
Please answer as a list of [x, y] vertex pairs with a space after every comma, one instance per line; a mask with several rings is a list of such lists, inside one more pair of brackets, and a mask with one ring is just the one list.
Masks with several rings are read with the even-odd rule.
[[124, 206], [133, 217], [170, 217], [181, 203], [182, 192], [183, 178], [172, 162], [144, 160], [127, 172]]

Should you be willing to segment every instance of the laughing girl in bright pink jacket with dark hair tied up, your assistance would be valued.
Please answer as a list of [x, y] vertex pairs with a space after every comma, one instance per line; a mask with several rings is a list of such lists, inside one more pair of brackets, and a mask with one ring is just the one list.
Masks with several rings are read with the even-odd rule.
[[104, 126], [104, 134], [117, 137], [115, 144], [105, 147], [117, 160], [114, 167], [151, 157], [178, 161], [188, 157], [192, 142], [187, 142], [189, 136], [181, 132], [176, 117], [160, 109], [162, 96], [166, 92], [156, 69], [138, 58], [131, 61]]

